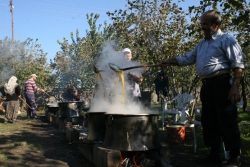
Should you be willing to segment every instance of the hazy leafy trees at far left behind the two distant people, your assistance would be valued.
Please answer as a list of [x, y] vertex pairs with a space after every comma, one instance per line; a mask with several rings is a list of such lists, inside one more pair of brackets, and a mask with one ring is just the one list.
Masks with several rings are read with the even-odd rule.
[[46, 55], [41, 49], [41, 45], [36, 40], [28, 38], [24, 42], [15, 41], [14, 46], [11, 39], [5, 38], [0, 45], [0, 69], [1, 84], [4, 84], [12, 75], [18, 78], [18, 82], [23, 83], [32, 73], [39, 76], [37, 84], [43, 88], [48, 87], [50, 69], [46, 63]]

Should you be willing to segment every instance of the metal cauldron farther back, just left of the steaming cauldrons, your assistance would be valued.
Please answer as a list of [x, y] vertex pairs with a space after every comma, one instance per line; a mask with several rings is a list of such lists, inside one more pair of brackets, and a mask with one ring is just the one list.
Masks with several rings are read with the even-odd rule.
[[82, 112], [82, 101], [59, 102], [59, 117], [79, 117]]

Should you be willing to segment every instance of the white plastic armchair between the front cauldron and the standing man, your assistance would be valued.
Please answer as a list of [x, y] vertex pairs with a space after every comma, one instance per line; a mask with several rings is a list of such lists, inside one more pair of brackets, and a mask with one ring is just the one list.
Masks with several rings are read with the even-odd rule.
[[[168, 104], [172, 104], [177, 101], [177, 106], [172, 109], [168, 109]], [[190, 94], [184, 93], [175, 96], [172, 100], [164, 102], [162, 111], [162, 129], [165, 128], [164, 121], [165, 115], [172, 115], [174, 118], [174, 123], [178, 122], [178, 115], [180, 116], [180, 121], [178, 123], [184, 123], [186, 120], [186, 114], [189, 115], [188, 105], [194, 101], [194, 97]]]

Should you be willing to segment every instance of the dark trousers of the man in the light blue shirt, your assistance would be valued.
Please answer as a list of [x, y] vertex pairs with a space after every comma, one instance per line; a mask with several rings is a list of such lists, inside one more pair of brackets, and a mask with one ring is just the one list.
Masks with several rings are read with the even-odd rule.
[[212, 152], [219, 152], [221, 140], [227, 151], [238, 154], [241, 148], [237, 106], [228, 98], [230, 88], [230, 77], [203, 83], [201, 88], [203, 139]]

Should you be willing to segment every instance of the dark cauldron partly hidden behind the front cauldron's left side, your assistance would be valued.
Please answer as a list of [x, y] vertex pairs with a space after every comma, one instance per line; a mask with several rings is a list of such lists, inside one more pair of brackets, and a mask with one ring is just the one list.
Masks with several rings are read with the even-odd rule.
[[105, 112], [87, 112], [88, 140], [103, 142], [105, 137]]

